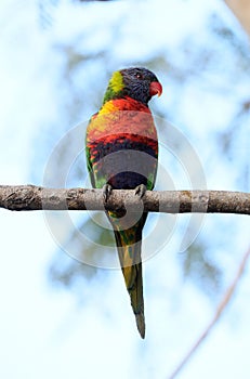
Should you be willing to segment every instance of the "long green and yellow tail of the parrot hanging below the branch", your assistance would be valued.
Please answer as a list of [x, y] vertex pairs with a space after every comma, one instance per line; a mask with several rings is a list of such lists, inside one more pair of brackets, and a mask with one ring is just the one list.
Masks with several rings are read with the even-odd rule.
[[[111, 215], [111, 218], [110, 218]], [[143, 276], [142, 276], [142, 230], [147, 214], [127, 230], [118, 230], [119, 219], [114, 220], [114, 213], [109, 213], [109, 220], [114, 226], [120, 265], [128, 289], [131, 305], [135, 315], [139, 332], [145, 337]]]

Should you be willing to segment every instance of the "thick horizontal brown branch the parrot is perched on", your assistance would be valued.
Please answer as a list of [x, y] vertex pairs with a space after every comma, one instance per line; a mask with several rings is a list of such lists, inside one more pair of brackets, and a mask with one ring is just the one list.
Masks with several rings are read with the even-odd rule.
[[166, 213], [250, 214], [250, 194], [227, 191], [147, 191], [141, 200], [131, 190], [114, 190], [104, 206], [102, 190], [0, 185], [0, 208], [9, 210], [124, 210]]

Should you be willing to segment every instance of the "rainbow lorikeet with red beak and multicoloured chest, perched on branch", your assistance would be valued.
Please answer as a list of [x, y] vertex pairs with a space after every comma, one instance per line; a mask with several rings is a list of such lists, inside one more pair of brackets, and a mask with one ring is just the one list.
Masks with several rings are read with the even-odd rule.
[[[115, 71], [101, 109], [87, 129], [87, 161], [92, 186], [135, 190], [142, 197], [153, 190], [158, 141], [148, 101], [162, 92], [155, 74], [146, 68]], [[141, 245], [147, 213], [107, 211], [114, 228], [120, 265], [141, 337], [145, 337]]]

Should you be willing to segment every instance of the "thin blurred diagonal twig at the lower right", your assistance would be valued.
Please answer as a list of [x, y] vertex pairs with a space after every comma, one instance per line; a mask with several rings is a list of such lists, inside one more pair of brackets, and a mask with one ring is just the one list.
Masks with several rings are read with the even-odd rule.
[[232, 284], [229, 285], [229, 287], [227, 288], [224, 297], [222, 298], [222, 301], [219, 303], [219, 306], [216, 309], [216, 312], [215, 312], [212, 321], [207, 326], [207, 328], [203, 330], [203, 332], [198, 338], [198, 340], [195, 342], [195, 344], [192, 347], [192, 349], [188, 351], [188, 353], [185, 355], [185, 357], [182, 360], [182, 362], [179, 364], [179, 366], [175, 368], [175, 370], [170, 375], [169, 379], [176, 378], [176, 376], [181, 373], [181, 370], [184, 368], [184, 366], [188, 363], [192, 355], [197, 351], [199, 345], [205, 341], [205, 339], [208, 337], [209, 332], [215, 326], [215, 324], [219, 321], [219, 318], [221, 317], [222, 313], [225, 311], [226, 305], [231, 301], [240, 278], [242, 277], [242, 273], [246, 269], [249, 257], [250, 257], [250, 248], [245, 253], [245, 256], [239, 264], [237, 274], [236, 274], [234, 280], [232, 282]]

